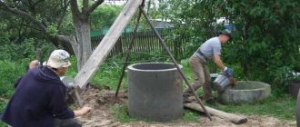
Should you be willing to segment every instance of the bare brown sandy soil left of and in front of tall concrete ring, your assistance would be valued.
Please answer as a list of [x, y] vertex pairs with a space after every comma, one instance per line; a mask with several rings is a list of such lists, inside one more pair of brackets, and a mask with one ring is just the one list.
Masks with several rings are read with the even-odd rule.
[[125, 104], [127, 96], [125, 92], [120, 92], [115, 99], [115, 91], [90, 88], [83, 94], [85, 104], [91, 106], [93, 110], [78, 117], [83, 122], [84, 127], [294, 127], [296, 122], [282, 121], [270, 116], [250, 115], [247, 122], [235, 124], [225, 119], [212, 116], [213, 121], [207, 117], [200, 116], [198, 122], [186, 122], [177, 120], [175, 122], [117, 122], [114, 118], [111, 106], [114, 104]]

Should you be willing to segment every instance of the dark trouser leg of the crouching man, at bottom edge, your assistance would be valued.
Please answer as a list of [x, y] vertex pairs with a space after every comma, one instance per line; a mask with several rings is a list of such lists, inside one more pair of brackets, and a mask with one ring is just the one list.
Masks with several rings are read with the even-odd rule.
[[55, 119], [54, 127], [81, 127], [80, 121], [70, 118], [70, 119]]

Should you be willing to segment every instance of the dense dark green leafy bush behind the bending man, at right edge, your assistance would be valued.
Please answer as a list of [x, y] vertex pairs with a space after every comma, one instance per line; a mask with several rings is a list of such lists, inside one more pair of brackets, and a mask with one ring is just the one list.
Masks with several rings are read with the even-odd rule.
[[[227, 59], [239, 63], [250, 80], [258, 79], [282, 91], [286, 74], [299, 66], [300, 3], [283, 1], [230, 1], [222, 5], [224, 15], [235, 22], [235, 42], [227, 48]], [[245, 9], [246, 8], [246, 9]], [[288, 50], [287, 50], [288, 49]], [[238, 53], [238, 54], [236, 54]]]

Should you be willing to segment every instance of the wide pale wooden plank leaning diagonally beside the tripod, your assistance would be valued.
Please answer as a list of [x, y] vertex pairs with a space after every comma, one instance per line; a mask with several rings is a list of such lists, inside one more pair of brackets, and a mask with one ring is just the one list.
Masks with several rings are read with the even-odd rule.
[[81, 89], [85, 89], [86, 83], [88, 83], [98, 70], [98, 67], [105, 61], [107, 54], [114, 47], [125, 26], [129, 23], [133, 15], [135, 15], [138, 6], [141, 4], [142, 0], [128, 0], [120, 15], [115, 19], [114, 24], [110, 27], [107, 34], [105, 34], [105, 37], [95, 48], [95, 51], [91, 54], [82, 69], [76, 74], [75, 83]]

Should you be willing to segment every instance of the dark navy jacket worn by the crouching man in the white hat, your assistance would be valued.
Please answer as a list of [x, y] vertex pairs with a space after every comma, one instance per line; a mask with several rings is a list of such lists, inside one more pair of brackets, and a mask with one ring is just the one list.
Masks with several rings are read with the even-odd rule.
[[64, 83], [46, 66], [29, 70], [18, 82], [1, 120], [13, 127], [53, 127], [55, 118], [74, 118], [65, 103]]

